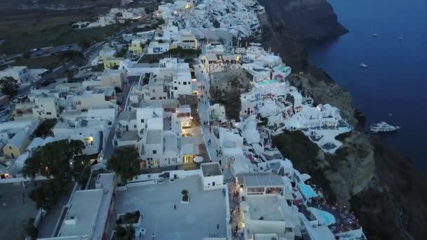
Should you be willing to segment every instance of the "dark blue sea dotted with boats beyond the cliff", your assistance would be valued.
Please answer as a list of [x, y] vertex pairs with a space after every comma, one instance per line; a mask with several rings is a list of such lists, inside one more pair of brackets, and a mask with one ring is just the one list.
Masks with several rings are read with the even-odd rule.
[[400, 126], [383, 142], [427, 169], [427, 0], [328, 1], [350, 32], [309, 44], [310, 62], [352, 93], [367, 126]]

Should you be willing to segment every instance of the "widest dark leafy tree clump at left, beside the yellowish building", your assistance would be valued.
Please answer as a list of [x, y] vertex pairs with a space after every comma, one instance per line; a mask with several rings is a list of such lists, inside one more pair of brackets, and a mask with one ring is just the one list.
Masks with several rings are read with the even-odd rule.
[[34, 179], [40, 174], [60, 182], [70, 181], [74, 175], [72, 166], [77, 168], [81, 163], [74, 161], [74, 156], [80, 155], [83, 149], [84, 143], [80, 140], [60, 140], [37, 147], [25, 161], [22, 175]]

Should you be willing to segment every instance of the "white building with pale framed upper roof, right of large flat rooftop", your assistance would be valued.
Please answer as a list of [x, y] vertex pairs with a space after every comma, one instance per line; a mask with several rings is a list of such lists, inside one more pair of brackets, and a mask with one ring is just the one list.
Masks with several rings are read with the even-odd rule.
[[294, 239], [299, 230], [298, 208], [284, 198], [285, 185], [275, 173], [239, 174], [236, 184], [245, 199], [244, 228], [254, 238], [256, 234], [275, 234], [280, 238]]

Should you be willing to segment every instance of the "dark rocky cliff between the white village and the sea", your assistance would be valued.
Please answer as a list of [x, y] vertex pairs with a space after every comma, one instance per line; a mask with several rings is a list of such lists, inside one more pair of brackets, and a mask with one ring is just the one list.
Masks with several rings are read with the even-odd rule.
[[[295, 74], [291, 78], [315, 102], [339, 107], [355, 131], [340, 136], [336, 154], [324, 154], [302, 134], [283, 133], [275, 145], [294, 166], [308, 171], [329, 192], [329, 199], [350, 205], [369, 239], [424, 239], [427, 225], [427, 174], [417, 171], [397, 152], [362, 129], [364, 119], [351, 95], [327, 73], [308, 63], [299, 40], [336, 37], [346, 33], [326, 0], [260, 0], [263, 45], [280, 53]], [[303, 73], [300, 73], [303, 72]], [[292, 146], [292, 147], [289, 147]], [[314, 159], [314, 160], [313, 160]]]

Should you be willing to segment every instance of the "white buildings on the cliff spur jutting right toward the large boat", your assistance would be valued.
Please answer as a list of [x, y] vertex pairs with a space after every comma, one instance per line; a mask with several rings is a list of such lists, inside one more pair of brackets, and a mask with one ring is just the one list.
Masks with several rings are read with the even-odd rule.
[[[279, 55], [265, 51], [259, 44], [237, 46], [232, 53], [225, 53], [223, 49], [223, 46], [206, 46], [206, 55], [201, 57], [202, 67], [207, 72], [237, 67], [251, 74], [251, 89], [240, 97], [240, 119], [252, 115], [266, 118], [273, 134], [284, 129], [301, 130], [325, 152], [334, 153], [342, 145], [335, 137], [351, 131], [352, 126], [341, 118], [338, 108], [329, 104], [315, 106], [312, 98], [290, 86], [291, 67], [286, 66]], [[238, 61], [223, 61], [223, 55]]]

